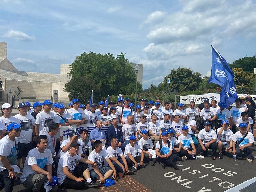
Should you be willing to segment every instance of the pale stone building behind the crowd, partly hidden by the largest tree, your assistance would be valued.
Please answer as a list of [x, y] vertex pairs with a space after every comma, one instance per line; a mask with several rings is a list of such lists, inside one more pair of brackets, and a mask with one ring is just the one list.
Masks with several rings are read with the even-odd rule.
[[[138, 82], [142, 84], [143, 65], [138, 65]], [[60, 65], [60, 74], [18, 71], [7, 59], [7, 43], [0, 42], [0, 102], [12, 103], [15, 96], [15, 100], [36, 97], [39, 101], [52, 98], [53, 102], [68, 103], [68, 92], [63, 88], [69, 72], [69, 64]]]

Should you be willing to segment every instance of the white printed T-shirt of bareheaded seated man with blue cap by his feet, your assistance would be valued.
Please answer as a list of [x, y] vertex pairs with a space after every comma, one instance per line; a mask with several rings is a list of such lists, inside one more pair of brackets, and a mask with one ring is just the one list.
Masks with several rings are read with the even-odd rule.
[[[106, 151], [102, 150], [100, 151], [100, 153], [96, 153], [95, 150], [93, 150], [89, 156], [88, 156], [88, 159], [92, 162], [96, 162], [97, 163], [97, 167], [98, 168], [101, 168], [102, 167], [102, 162], [104, 162], [104, 167], [107, 167], [108, 166], [108, 163], [105, 159], [108, 159], [108, 154]], [[93, 167], [91, 164], [88, 164], [88, 167], [89, 167], [89, 170], [92, 170]]]

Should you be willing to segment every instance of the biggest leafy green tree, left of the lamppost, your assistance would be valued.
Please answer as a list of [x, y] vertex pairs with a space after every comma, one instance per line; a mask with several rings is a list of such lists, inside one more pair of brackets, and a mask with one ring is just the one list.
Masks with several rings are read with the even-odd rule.
[[[94, 52], [82, 53], [71, 64], [69, 75], [71, 82], [65, 85], [65, 90], [70, 95], [76, 95], [77, 98], [90, 99], [91, 90], [98, 90], [97, 96], [106, 98], [108, 95], [131, 94], [135, 92], [135, 73], [132, 64], [120, 53], [116, 57], [112, 54], [96, 54]], [[87, 77], [87, 82], [84, 78]], [[76, 91], [70, 85], [82, 84], [83, 93]], [[91, 85], [93, 84], [93, 86]], [[80, 86], [80, 85], [79, 85]], [[94, 88], [95, 87], [95, 88]], [[73, 93], [74, 92], [74, 93]], [[86, 97], [82, 94], [86, 92]], [[142, 86], [138, 83], [138, 92], [142, 92]], [[96, 100], [96, 99], [95, 99]]]

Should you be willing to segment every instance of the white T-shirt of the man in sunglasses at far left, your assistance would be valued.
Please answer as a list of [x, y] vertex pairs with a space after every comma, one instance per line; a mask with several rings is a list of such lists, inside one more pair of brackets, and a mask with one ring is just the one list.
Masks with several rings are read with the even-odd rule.
[[[17, 164], [17, 148], [18, 148], [18, 139], [15, 137], [15, 142], [12, 141], [8, 135], [5, 135], [2, 139], [0, 139], [0, 155], [7, 157], [9, 163], [11, 165]], [[6, 169], [0, 161], [0, 172]]]

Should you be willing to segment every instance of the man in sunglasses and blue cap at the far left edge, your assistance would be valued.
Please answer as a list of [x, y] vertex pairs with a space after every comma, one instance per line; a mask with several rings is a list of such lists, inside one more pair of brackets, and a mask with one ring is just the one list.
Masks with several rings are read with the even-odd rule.
[[20, 136], [20, 124], [11, 123], [7, 127], [7, 132], [0, 140], [0, 190], [13, 190], [15, 172], [13, 165], [17, 164], [17, 148]]

